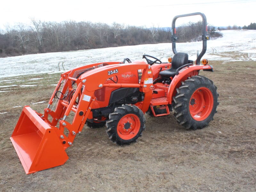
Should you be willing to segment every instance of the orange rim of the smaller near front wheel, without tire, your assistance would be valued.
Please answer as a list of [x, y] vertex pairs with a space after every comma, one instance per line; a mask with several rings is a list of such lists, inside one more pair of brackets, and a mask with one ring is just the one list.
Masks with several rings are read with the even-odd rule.
[[129, 140], [140, 130], [140, 119], [137, 115], [127, 114], [117, 124], [117, 134], [121, 139]]

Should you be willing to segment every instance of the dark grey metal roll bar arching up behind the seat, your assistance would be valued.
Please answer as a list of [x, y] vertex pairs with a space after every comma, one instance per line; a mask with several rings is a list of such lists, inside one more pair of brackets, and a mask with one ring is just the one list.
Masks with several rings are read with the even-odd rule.
[[172, 51], [173, 53], [177, 53], [176, 51], [176, 41], [178, 40], [178, 36], [176, 36], [176, 28], [175, 28], [175, 22], [178, 18], [180, 17], [188, 17], [188, 16], [193, 16], [193, 15], [201, 15], [203, 19], [203, 28], [202, 28], [202, 40], [203, 40], [203, 49], [201, 53], [197, 56], [196, 58], [196, 64], [200, 64], [200, 60], [203, 57], [204, 53], [206, 52], [207, 48], [207, 40], [210, 39], [210, 36], [207, 34], [207, 21], [204, 13], [196, 12], [196, 13], [189, 13], [189, 14], [184, 14], [184, 15], [177, 15], [172, 19]]

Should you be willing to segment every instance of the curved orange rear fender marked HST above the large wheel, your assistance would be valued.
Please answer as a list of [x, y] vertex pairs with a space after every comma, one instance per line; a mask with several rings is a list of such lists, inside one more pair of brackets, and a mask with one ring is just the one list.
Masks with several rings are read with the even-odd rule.
[[203, 69], [204, 71], [213, 72], [213, 67], [211, 65], [190, 65], [181, 69], [179, 71], [179, 74], [173, 77], [167, 95], [167, 100], [169, 104], [172, 103], [172, 97], [176, 95], [176, 88], [180, 87], [181, 82], [187, 80], [188, 77], [197, 76], [201, 69]]

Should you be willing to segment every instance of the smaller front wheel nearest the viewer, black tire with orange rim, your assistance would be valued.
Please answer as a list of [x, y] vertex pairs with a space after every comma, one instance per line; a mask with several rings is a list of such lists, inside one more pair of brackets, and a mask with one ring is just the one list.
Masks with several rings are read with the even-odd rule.
[[118, 145], [130, 144], [142, 135], [145, 121], [143, 112], [135, 105], [117, 107], [106, 123], [108, 138]]

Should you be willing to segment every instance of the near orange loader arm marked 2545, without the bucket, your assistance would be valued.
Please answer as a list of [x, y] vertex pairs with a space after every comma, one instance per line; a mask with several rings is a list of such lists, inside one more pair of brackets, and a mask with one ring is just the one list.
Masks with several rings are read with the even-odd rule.
[[[145, 93], [145, 98], [147, 98], [141, 106], [141, 110], [146, 112], [152, 97], [152, 89], [150, 89], [150, 86], [153, 85], [153, 76], [148, 66], [148, 64], [113, 64], [88, 71], [81, 75], [78, 79], [68, 79], [69, 81], [76, 81], [77, 89], [69, 104], [63, 100], [59, 100], [58, 102], [58, 106], [66, 109], [64, 116], [60, 117], [62, 120], [60, 120], [59, 125], [60, 134], [62, 134], [64, 137], [63, 140], [66, 141], [65, 144], [63, 144], [64, 148], [70, 147], [75, 139], [76, 133], [82, 131], [84, 123], [91, 111], [93, 102], [95, 101], [94, 92], [97, 89], [101, 89], [103, 87], [138, 87], [140, 88], [141, 92]], [[104, 84], [106, 79], [116, 76], [117, 74], [123, 74], [131, 69], [143, 69], [140, 84]], [[113, 73], [114, 71], [115, 73]], [[63, 92], [66, 92], [66, 90], [63, 90]], [[74, 107], [78, 94], [81, 94], [79, 102], [77, 107]], [[46, 113], [47, 110], [48, 109], [46, 109]], [[75, 112], [75, 115], [72, 123], [69, 123], [65, 120], [71, 111]], [[60, 112], [62, 113], [62, 111], [59, 111], [59, 113]], [[63, 134], [64, 128], [68, 129], [69, 131], [68, 137]]]

